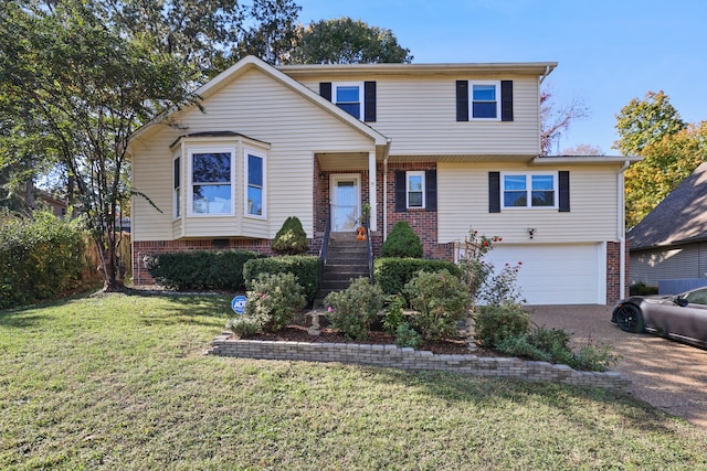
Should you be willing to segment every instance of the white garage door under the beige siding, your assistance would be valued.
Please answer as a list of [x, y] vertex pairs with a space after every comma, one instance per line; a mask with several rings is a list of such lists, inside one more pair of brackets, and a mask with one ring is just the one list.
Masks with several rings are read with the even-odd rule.
[[604, 304], [603, 244], [497, 245], [484, 258], [496, 269], [523, 263], [518, 285], [528, 304]]

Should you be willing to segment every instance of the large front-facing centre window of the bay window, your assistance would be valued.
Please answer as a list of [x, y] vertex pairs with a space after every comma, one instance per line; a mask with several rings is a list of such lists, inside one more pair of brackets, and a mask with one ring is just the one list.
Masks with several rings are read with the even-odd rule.
[[229, 149], [189, 152], [190, 214], [233, 214], [234, 153]]

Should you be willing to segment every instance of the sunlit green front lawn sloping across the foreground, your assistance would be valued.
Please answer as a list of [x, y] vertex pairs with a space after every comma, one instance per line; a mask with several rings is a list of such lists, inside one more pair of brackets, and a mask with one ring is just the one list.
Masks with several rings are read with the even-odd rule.
[[707, 469], [707, 431], [603, 390], [204, 356], [229, 313], [0, 311], [0, 469]]

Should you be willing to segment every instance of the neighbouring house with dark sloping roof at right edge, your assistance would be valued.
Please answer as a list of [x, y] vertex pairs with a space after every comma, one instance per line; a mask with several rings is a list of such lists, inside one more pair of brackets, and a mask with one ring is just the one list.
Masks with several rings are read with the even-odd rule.
[[631, 282], [707, 278], [707, 163], [629, 234]]

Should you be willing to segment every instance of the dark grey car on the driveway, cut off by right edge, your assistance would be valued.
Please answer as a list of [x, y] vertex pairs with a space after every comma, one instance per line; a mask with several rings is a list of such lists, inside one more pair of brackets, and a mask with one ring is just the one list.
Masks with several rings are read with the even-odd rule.
[[677, 296], [634, 296], [620, 300], [611, 322], [625, 332], [651, 331], [707, 347], [707, 287]]

